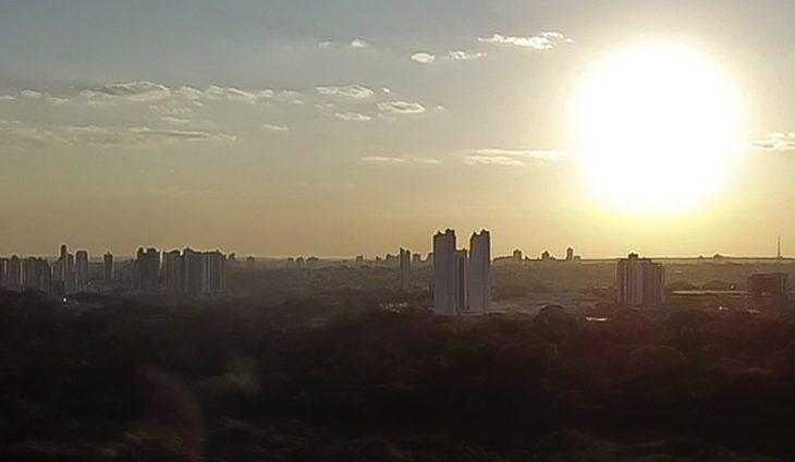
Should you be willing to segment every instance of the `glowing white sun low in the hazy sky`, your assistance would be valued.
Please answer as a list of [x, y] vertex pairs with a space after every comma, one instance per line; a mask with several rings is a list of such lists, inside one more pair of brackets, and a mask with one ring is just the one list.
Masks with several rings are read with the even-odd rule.
[[613, 207], [692, 209], [731, 179], [739, 94], [694, 48], [655, 41], [608, 56], [584, 76], [573, 109], [582, 172]]

